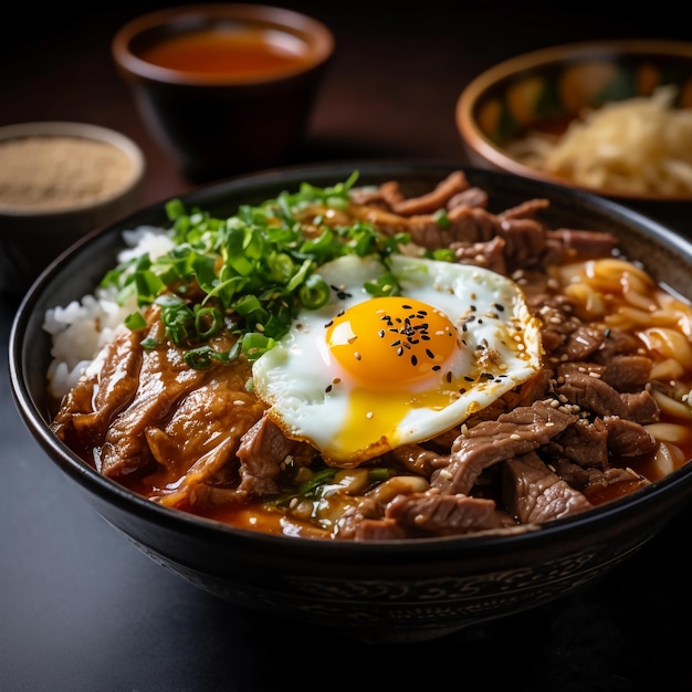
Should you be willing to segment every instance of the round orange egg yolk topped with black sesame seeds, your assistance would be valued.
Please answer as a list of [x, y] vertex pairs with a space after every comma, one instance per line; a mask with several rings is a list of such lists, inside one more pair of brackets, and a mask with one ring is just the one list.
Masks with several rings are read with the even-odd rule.
[[401, 388], [443, 370], [458, 353], [457, 329], [438, 308], [401, 296], [349, 307], [327, 326], [327, 346], [354, 379]]

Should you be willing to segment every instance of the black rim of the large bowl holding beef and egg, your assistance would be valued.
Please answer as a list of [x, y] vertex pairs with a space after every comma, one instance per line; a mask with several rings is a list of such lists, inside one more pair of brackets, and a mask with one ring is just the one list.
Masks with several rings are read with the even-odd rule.
[[[326, 164], [307, 164], [286, 166], [283, 168], [259, 171], [250, 175], [238, 176], [222, 182], [200, 187], [186, 195], [179, 196], [189, 208], [203, 206], [209, 198], [218, 198], [219, 195], [231, 195], [242, 191], [250, 193], [253, 187], [283, 185], [296, 180], [310, 179], [318, 175], [328, 175], [334, 181], [346, 179], [353, 170], [359, 170], [366, 176], [381, 176], [382, 172], [396, 176], [406, 170], [429, 174], [442, 174], [444, 171], [464, 170], [473, 174], [476, 171], [483, 177], [495, 180], [514, 176], [504, 171], [478, 169], [463, 164], [453, 165], [449, 161], [401, 161], [401, 160], [367, 160], [367, 161], [338, 161]], [[658, 240], [672, 251], [679, 251], [692, 258], [692, 240], [688, 240], [670, 229], [661, 226], [653, 219], [623, 207], [606, 198], [599, 198], [581, 190], [565, 189], [549, 182], [526, 180], [528, 186], [542, 188], [543, 193], [569, 195], [575, 202], [584, 203], [589, 209], [596, 209], [616, 220], [633, 223], [646, 234], [656, 234]], [[114, 505], [117, 508], [132, 513], [138, 518], [145, 520], [158, 526], [169, 530], [180, 530], [187, 535], [222, 539], [229, 545], [237, 542], [264, 545], [270, 551], [283, 551], [304, 555], [328, 552], [335, 559], [347, 559], [349, 555], [367, 555], [379, 563], [386, 563], [392, 556], [409, 557], [413, 555], [429, 555], [434, 553], [448, 556], [459, 556], [468, 552], [469, 555], [487, 554], [502, 551], [510, 544], [513, 551], [530, 551], [544, 545], [555, 535], [567, 537], [580, 532], [598, 532], [604, 525], [608, 527], [608, 520], [622, 511], [626, 515], [639, 515], [646, 507], [663, 492], [692, 493], [692, 463], [689, 461], [662, 479], [653, 481], [635, 493], [611, 500], [608, 503], [596, 506], [588, 512], [570, 517], [559, 518], [537, 526], [520, 526], [516, 531], [482, 532], [464, 536], [445, 536], [416, 539], [385, 539], [373, 542], [313, 539], [306, 537], [292, 537], [284, 535], [266, 534], [251, 530], [235, 527], [220, 521], [209, 520], [180, 510], [159, 505], [135, 492], [126, 489], [116, 481], [99, 474], [95, 469], [82, 461], [72, 450], [50, 431], [45, 418], [35, 405], [23, 373], [30, 369], [23, 354], [23, 333], [27, 328], [32, 311], [41, 296], [50, 289], [51, 282], [60, 274], [63, 265], [71, 256], [78, 254], [92, 243], [109, 234], [120, 233], [125, 229], [134, 228], [133, 223], [146, 224], [155, 217], [164, 218], [162, 209], [166, 200], [155, 202], [138, 210], [119, 222], [106, 228], [93, 231], [80, 240], [71, 249], [56, 258], [35, 280], [32, 287], [25, 293], [14, 315], [9, 339], [8, 360], [10, 373], [10, 387], [17, 408], [40, 447], [50, 457], [50, 461], [56, 464], [69, 478], [77, 483], [82, 490], [101, 501]], [[139, 220], [139, 221], [138, 221]], [[91, 500], [90, 500], [91, 502]], [[653, 532], [656, 533], [656, 532]], [[653, 535], [653, 533], [651, 535]], [[382, 547], [386, 547], [382, 551]]]

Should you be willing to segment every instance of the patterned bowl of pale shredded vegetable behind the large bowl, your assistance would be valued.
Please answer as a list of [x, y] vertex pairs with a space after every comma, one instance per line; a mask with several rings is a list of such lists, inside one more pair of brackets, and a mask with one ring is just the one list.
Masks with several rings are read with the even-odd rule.
[[606, 196], [689, 230], [692, 43], [555, 45], [478, 75], [457, 102], [471, 162]]

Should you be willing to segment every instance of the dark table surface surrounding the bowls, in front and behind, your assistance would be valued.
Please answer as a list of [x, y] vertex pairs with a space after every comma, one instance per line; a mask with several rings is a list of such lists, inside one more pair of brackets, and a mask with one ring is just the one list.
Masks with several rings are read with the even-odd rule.
[[[0, 125], [113, 127], [145, 151], [144, 203], [192, 189], [146, 132], [109, 57], [117, 27], [156, 3], [106, 1], [87, 14], [23, 4], [3, 23]], [[283, 4], [323, 19], [337, 40], [296, 162], [464, 164], [454, 104], [492, 64], [568, 41], [692, 39], [673, 2]], [[0, 303], [0, 690], [690, 689], [692, 507], [574, 596], [437, 641], [374, 647], [256, 617], [140, 554], [39, 450], [7, 377], [15, 307]]]

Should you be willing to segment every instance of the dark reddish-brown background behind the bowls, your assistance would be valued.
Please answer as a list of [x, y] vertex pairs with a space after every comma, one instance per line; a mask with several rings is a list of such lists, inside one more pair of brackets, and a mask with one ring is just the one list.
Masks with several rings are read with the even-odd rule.
[[[189, 187], [144, 130], [112, 64], [117, 28], [145, 11], [187, 2], [105, 0], [40, 11], [13, 6], [0, 41], [0, 125], [77, 119], [133, 137], [147, 155], [145, 201]], [[675, 7], [678, 4], [678, 7]], [[287, 1], [334, 31], [337, 50], [298, 160], [463, 156], [454, 105], [479, 72], [526, 51], [609, 38], [692, 40], [672, 0], [650, 3], [420, 0]]]

